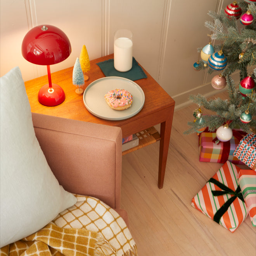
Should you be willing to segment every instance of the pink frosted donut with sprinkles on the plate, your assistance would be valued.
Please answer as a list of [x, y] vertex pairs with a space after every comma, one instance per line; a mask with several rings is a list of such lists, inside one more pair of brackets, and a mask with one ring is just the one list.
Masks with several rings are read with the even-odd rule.
[[111, 109], [124, 110], [131, 106], [132, 95], [125, 89], [115, 89], [109, 91], [104, 96], [107, 104]]

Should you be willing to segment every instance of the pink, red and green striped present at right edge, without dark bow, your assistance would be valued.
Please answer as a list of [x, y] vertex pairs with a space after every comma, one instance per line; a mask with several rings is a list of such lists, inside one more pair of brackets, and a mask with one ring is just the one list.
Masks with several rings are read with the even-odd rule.
[[256, 172], [253, 170], [240, 170], [238, 183], [252, 224], [256, 227]]

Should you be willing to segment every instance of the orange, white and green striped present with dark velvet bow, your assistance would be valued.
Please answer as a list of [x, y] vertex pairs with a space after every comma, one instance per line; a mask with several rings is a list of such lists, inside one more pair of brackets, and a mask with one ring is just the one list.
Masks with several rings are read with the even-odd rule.
[[191, 205], [234, 232], [247, 216], [240, 190], [238, 166], [227, 161], [192, 199]]

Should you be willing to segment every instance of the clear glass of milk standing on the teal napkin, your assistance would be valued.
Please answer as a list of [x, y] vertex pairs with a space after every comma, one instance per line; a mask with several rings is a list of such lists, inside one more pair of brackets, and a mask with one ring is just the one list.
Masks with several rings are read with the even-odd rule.
[[114, 68], [120, 72], [129, 71], [132, 67], [132, 36], [128, 29], [114, 33]]

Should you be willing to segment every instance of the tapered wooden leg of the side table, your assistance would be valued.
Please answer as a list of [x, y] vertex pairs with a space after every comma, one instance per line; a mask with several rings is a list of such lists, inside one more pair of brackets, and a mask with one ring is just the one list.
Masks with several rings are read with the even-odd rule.
[[163, 188], [164, 185], [164, 174], [168, 156], [168, 149], [171, 136], [171, 126], [173, 120], [173, 113], [170, 113], [168, 119], [165, 122], [161, 123], [160, 130], [160, 149], [159, 149], [159, 170], [158, 170], [158, 187], [159, 189]]

